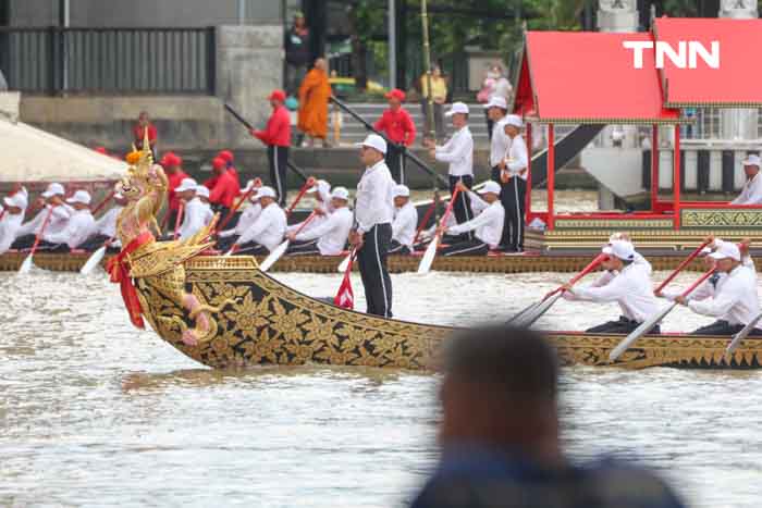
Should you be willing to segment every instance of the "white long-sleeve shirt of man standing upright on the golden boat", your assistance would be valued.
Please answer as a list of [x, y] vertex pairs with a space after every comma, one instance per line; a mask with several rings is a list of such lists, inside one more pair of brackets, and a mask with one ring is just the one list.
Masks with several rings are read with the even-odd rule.
[[392, 189], [396, 184], [386, 163], [381, 160], [366, 168], [357, 184], [355, 220], [359, 233], [369, 232], [377, 224], [391, 224], [394, 218]]

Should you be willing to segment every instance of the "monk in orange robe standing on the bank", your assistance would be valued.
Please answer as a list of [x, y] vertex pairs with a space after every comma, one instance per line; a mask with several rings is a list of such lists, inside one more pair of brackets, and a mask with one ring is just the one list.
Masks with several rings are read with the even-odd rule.
[[328, 82], [328, 62], [325, 59], [315, 61], [315, 66], [307, 73], [299, 87], [299, 131], [308, 137], [308, 146], [315, 146], [315, 138], [328, 146], [328, 100], [331, 85]]

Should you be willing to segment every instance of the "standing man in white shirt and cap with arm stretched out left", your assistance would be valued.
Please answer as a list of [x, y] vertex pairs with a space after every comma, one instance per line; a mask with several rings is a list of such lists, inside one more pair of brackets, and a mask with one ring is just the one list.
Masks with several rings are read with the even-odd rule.
[[[474, 137], [468, 129], [468, 106], [463, 102], [453, 103], [445, 116], [451, 116], [455, 134], [442, 146], [429, 144], [430, 156], [440, 162], [447, 162], [450, 169], [450, 194], [455, 191], [458, 182], [463, 182], [469, 189], [474, 186]], [[471, 203], [466, 193], [460, 193], [453, 206], [455, 220], [458, 224], [468, 222], [474, 218]], [[472, 238], [470, 233], [468, 239]]]

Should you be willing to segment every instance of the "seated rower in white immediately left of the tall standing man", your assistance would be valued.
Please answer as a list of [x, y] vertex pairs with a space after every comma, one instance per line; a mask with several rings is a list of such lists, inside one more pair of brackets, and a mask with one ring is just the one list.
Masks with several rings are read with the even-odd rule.
[[[352, 230], [352, 211], [347, 208], [349, 191], [345, 187], [336, 187], [331, 193], [332, 213], [315, 227], [305, 227], [298, 235], [295, 232], [286, 234], [292, 241], [290, 255], [339, 256], [346, 247], [346, 240]], [[311, 224], [311, 221], [310, 221]]]

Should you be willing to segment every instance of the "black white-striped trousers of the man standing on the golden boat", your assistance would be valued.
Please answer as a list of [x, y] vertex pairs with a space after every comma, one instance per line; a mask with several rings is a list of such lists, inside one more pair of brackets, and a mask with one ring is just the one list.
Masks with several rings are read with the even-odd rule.
[[357, 251], [365, 299], [369, 314], [392, 317], [392, 277], [386, 268], [389, 244], [392, 241], [392, 225], [376, 224], [362, 235], [362, 247]]

